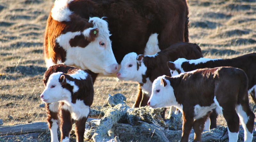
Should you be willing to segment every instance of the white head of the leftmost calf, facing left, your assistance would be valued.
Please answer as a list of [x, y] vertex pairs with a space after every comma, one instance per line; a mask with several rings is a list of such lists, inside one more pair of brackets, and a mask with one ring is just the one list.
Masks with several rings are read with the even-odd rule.
[[40, 95], [41, 100], [46, 103], [53, 103], [71, 99], [70, 90], [63, 87], [67, 86], [67, 84], [69, 84], [68, 86], [73, 86], [73, 93], [78, 91], [78, 87], [75, 85], [75, 82], [67, 80], [63, 72], [52, 73], [43, 93]]

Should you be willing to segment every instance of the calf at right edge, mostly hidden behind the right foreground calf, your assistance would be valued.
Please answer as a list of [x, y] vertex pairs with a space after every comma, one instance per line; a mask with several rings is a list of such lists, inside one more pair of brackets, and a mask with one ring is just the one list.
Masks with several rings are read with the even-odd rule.
[[[253, 101], [256, 103], [256, 53], [246, 54], [232, 59], [208, 59], [200, 58], [196, 60], [187, 60], [180, 58], [174, 62], [168, 62], [168, 67], [171, 70], [172, 76], [178, 75], [181, 72], [193, 71], [201, 68], [214, 68], [221, 66], [231, 66], [242, 69], [248, 77], [248, 94], [251, 93]], [[216, 118], [218, 115], [213, 111], [211, 114], [210, 129], [216, 128]]]

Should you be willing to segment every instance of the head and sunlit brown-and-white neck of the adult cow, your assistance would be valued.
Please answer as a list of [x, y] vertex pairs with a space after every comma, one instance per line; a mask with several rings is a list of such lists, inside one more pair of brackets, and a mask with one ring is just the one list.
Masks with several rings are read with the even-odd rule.
[[108, 23], [98, 17], [80, 17], [70, 10], [72, 2], [56, 0], [52, 8], [44, 41], [46, 66], [63, 63], [104, 75], [117, 71]]

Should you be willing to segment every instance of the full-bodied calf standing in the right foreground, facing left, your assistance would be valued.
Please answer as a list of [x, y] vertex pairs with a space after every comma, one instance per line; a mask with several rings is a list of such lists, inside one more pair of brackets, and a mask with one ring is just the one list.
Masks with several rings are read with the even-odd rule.
[[238, 139], [239, 117], [244, 141], [251, 142], [255, 115], [249, 106], [247, 87], [244, 71], [233, 67], [198, 69], [174, 77], [164, 75], [154, 80], [148, 105], [152, 108], [175, 106], [182, 111], [180, 142], [188, 141], [192, 127], [194, 142], [201, 142], [204, 123], [214, 108], [227, 122], [229, 142]]

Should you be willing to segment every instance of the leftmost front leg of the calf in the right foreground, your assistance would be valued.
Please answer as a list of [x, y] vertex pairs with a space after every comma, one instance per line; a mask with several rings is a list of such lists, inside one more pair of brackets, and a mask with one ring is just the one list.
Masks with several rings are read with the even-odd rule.
[[194, 118], [183, 112], [182, 136], [180, 142], [188, 142], [189, 133], [192, 129]]

